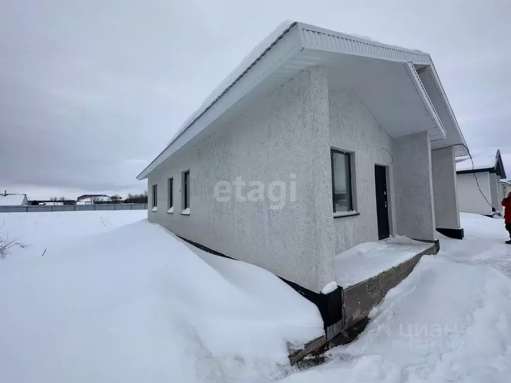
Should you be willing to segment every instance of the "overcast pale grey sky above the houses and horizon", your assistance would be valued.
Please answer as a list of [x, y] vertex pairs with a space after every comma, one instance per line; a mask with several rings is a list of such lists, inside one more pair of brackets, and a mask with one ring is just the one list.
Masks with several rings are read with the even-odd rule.
[[0, 189], [142, 192], [135, 176], [285, 19], [430, 53], [469, 146], [500, 147], [511, 174], [508, 0], [0, 0]]

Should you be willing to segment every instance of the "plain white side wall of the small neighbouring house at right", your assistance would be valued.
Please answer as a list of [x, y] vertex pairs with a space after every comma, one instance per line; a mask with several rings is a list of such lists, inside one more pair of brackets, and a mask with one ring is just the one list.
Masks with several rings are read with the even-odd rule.
[[[474, 177], [475, 175], [475, 177]], [[479, 182], [481, 192], [476, 183]], [[476, 214], [491, 214], [492, 207], [486, 202], [483, 195], [491, 203], [490, 173], [466, 173], [456, 176], [458, 188], [459, 211]]]

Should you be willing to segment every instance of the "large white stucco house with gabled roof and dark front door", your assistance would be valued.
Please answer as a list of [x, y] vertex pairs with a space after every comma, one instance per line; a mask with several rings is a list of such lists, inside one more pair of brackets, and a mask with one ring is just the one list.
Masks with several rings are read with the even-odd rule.
[[318, 294], [360, 243], [462, 237], [465, 147], [429, 54], [290, 22], [137, 178], [149, 221]]

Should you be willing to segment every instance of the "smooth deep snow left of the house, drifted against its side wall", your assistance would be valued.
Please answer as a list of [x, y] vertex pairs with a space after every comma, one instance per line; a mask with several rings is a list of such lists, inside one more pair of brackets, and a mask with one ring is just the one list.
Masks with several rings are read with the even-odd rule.
[[112, 230], [107, 213], [112, 226], [139, 214], [0, 217], [32, 243], [58, 233], [44, 256], [21, 249], [0, 262], [0, 381], [273, 379], [289, 365], [287, 342], [323, 334], [316, 306], [273, 274], [146, 220]]

